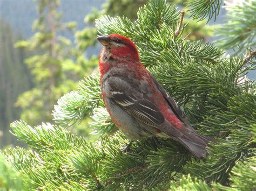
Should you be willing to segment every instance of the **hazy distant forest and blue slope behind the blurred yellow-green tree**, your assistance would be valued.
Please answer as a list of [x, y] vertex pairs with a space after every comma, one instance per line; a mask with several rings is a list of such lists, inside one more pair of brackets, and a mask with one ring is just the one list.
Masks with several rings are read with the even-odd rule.
[[[60, 1], [63, 22], [77, 22], [77, 30], [86, 25], [85, 16], [93, 7], [100, 9], [103, 0]], [[21, 39], [33, 35], [32, 25], [37, 18], [36, 3], [33, 0], [0, 0], [0, 148], [9, 144], [18, 144], [9, 131], [10, 123], [20, 118], [20, 110], [15, 107], [19, 94], [33, 88], [30, 70], [24, 59], [31, 53], [14, 48]], [[70, 33], [62, 34], [74, 40]], [[89, 50], [89, 54], [95, 50]]]

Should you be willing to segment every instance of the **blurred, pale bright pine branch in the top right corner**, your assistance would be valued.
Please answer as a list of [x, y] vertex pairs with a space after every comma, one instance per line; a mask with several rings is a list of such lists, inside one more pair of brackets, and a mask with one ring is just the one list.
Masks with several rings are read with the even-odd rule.
[[226, 23], [219, 25], [215, 34], [220, 37], [218, 45], [225, 49], [234, 49], [234, 54], [245, 52], [245, 49], [255, 49], [256, 9], [255, 1], [225, 2], [227, 9]]

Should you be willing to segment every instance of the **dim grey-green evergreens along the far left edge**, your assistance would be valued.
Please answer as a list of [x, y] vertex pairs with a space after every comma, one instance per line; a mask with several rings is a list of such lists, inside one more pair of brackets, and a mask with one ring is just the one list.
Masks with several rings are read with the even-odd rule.
[[29, 69], [23, 63], [27, 54], [15, 49], [17, 37], [8, 22], [0, 18], [0, 148], [16, 143], [9, 133], [9, 125], [19, 118], [15, 108], [19, 94], [32, 87]]

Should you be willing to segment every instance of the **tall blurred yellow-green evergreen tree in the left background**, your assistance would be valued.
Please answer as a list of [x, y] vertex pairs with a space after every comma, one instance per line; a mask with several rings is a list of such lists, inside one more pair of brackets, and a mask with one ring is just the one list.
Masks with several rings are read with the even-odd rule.
[[75, 49], [69, 39], [59, 35], [66, 30], [72, 32], [76, 23], [62, 23], [62, 13], [57, 11], [59, 5], [58, 0], [38, 0], [38, 19], [33, 24], [35, 35], [16, 43], [18, 48], [38, 51], [38, 55], [25, 60], [34, 76], [35, 87], [20, 95], [16, 103], [22, 108], [21, 118], [34, 125], [42, 120], [51, 121], [57, 99], [76, 87], [72, 78], [77, 70], [70, 72], [75, 65], [72, 60]]

